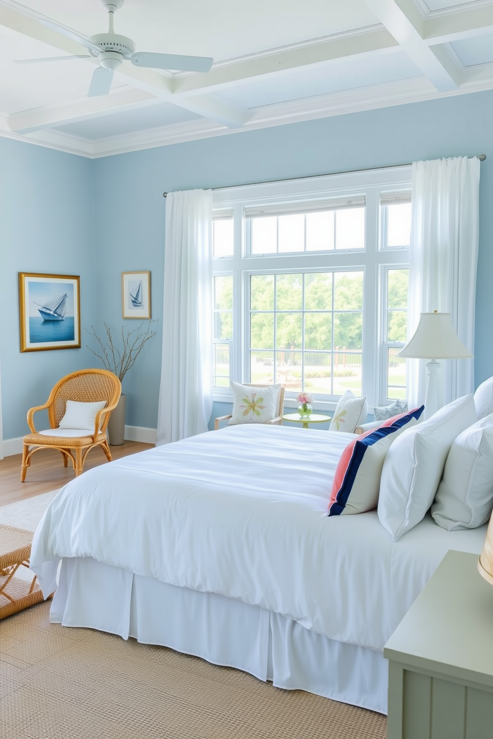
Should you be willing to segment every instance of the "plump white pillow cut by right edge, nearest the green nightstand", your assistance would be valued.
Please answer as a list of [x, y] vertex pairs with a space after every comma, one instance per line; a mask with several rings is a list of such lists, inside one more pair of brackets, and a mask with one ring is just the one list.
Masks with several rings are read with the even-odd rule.
[[447, 531], [477, 528], [493, 508], [493, 414], [455, 439], [446, 458], [432, 517]]

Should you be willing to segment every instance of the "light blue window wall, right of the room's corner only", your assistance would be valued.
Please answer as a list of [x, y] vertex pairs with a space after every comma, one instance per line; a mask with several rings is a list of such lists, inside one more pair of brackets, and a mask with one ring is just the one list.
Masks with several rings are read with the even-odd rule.
[[[484, 153], [476, 378], [493, 374], [493, 92], [241, 132], [94, 162], [98, 315], [121, 325], [120, 271], [152, 271], [157, 340], [126, 383], [127, 423], [156, 426], [163, 303], [163, 191], [224, 187]], [[214, 406], [221, 415], [224, 404]]]

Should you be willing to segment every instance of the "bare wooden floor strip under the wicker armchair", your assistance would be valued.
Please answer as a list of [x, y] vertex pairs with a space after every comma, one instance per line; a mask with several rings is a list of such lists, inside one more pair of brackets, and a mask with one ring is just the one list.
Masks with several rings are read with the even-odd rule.
[[[127, 454], [152, 449], [153, 446], [154, 444], [143, 444], [138, 441], [125, 441], [122, 446], [110, 446], [109, 449], [113, 459], [116, 460], [126, 457]], [[21, 460], [22, 454], [14, 454], [0, 460], [0, 505], [56, 490], [75, 477], [72, 463], [69, 461], [69, 466], [64, 467], [60, 452], [56, 452], [55, 449], [43, 449], [33, 455], [31, 466], [27, 469], [26, 482], [21, 483]], [[84, 462], [84, 470], [100, 464], [107, 464], [103, 450], [91, 449]]]

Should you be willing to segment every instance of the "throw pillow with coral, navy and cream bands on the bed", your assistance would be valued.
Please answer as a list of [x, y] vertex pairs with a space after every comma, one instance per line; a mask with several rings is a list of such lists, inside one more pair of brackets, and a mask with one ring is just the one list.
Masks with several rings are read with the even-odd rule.
[[347, 445], [334, 475], [329, 516], [364, 513], [376, 508], [385, 455], [398, 435], [418, 422], [423, 411], [421, 406], [388, 418]]

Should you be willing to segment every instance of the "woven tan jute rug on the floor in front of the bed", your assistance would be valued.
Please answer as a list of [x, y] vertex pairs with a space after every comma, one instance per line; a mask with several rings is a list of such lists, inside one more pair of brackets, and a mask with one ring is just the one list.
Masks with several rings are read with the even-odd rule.
[[163, 647], [49, 623], [0, 623], [1, 739], [385, 739], [384, 716]]

